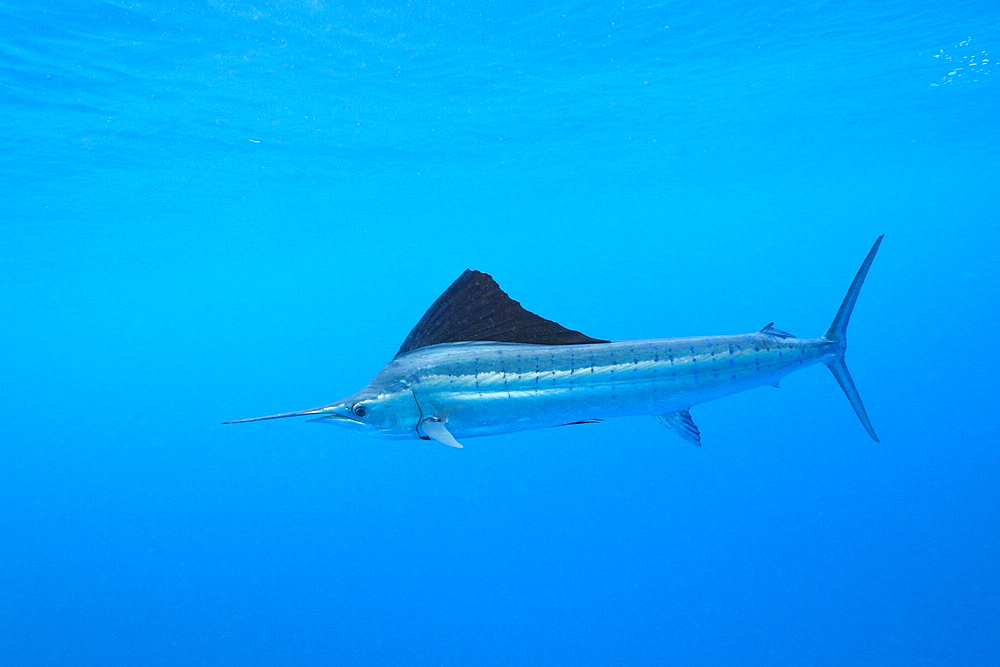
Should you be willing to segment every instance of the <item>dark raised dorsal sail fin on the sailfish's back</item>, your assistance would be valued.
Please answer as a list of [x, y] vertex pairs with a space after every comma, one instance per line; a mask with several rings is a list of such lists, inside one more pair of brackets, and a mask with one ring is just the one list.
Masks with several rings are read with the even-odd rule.
[[431, 304], [396, 356], [429, 345], [473, 341], [535, 345], [610, 342], [525, 310], [489, 274], [468, 269]]

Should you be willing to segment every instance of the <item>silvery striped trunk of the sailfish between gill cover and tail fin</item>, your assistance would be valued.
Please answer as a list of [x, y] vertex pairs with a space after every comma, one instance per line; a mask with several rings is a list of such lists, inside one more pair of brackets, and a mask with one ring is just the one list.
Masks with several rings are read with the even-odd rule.
[[762, 333], [596, 345], [470, 343], [416, 350], [390, 366], [408, 378], [422, 409], [447, 419], [462, 437], [664, 414], [774, 384], [830, 349], [821, 339]]

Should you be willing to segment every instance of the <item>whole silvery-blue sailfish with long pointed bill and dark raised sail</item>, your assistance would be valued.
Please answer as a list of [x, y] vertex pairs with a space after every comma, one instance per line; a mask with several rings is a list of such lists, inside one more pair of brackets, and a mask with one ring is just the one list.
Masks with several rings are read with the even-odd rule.
[[611, 342], [529, 312], [490, 275], [467, 270], [364, 389], [317, 408], [224, 423], [308, 416], [383, 438], [461, 448], [474, 436], [648, 415], [700, 445], [692, 406], [777, 385], [822, 363], [877, 442], [844, 354], [847, 325], [881, 243], [879, 236], [819, 338], [797, 338], [771, 322], [747, 334]]

